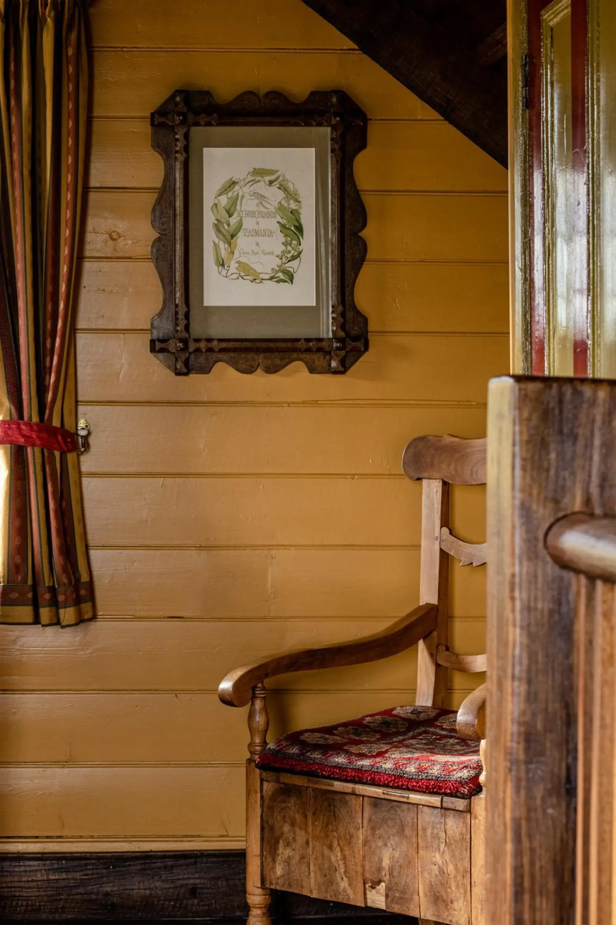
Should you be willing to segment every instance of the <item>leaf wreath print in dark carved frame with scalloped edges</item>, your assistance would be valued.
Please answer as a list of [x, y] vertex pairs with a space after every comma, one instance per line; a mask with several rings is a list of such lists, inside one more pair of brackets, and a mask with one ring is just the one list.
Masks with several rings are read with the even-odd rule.
[[354, 300], [366, 213], [353, 162], [366, 115], [339, 91], [176, 91], [151, 115], [163, 156], [152, 260], [163, 307], [151, 351], [176, 375], [300, 360], [344, 373], [368, 350]]

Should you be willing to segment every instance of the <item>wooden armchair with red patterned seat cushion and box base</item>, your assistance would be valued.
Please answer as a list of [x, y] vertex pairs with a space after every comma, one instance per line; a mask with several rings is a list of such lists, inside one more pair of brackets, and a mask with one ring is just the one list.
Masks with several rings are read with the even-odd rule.
[[[484, 672], [485, 656], [449, 651], [449, 556], [486, 561], [449, 530], [449, 483], [486, 480], [485, 440], [423, 437], [405, 474], [423, 479], [419, 606], [358, 641], [273, 656], [228, 674], [224, 704], [248, 702], [249, 925], [270, 925], [270, 891], [387, 909], [424, 923], [484, 925], [484, 796], [478, 743], [485, 685], [457, 717], [441, 709], [447, 670]], [[264, 682], [386, 659], [418, 646], [414, 707], [284, 736], [267, 746]], [[456, 732], [457, 720], [457, 732]]]

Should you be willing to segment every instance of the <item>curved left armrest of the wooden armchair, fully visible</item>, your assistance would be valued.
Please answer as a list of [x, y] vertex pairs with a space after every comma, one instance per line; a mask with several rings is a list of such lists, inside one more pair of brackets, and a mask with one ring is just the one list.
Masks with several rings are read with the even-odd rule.
[[218, 697], [229, 707], [244, 707], [252, 696], [252, 688], [266, 678], [289, 672], [310, 672], [320, 668], [360, 665], [368, 661], [387, 659], [404, 652], [436, 629], [436, 604], [422, 604], [380, 633], [323, 648], [305, 648], [298, 652], [274, 655], [254, 665], [244, 665], [229, 672], [220, 687]]

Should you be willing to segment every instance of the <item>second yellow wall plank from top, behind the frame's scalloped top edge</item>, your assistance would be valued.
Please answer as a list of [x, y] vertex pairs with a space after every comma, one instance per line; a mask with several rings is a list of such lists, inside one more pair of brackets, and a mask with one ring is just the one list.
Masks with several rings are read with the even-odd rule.
[[210, 90], [221, 102], [246, 90], [280, 90], [300, 101], [313, 90], [335, 89], [349, 93], [372, 118], [440, 118], [354, 51], [98, 50], [92, 60], [94, 116], [149, 117], [177, 89]]

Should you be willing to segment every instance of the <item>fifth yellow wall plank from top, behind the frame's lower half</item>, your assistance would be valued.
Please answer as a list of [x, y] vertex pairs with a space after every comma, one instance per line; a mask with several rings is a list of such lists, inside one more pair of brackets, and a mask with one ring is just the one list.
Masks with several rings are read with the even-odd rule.
[[[370, 263], [356, 302], [372, 331], [509, 332], [505, 264]], [[77, 324], [148, 330], [162, 301], [150, 261], [85, 260], [79, 274]]]

